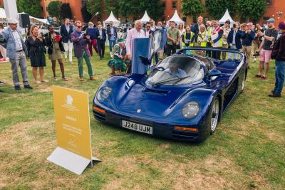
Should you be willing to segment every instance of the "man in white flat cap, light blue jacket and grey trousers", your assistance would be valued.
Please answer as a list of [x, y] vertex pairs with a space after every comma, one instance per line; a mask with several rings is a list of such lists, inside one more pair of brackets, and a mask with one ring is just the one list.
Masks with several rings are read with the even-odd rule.
[[12, 75], [15, 90], [21, 90], [19, 83], [18, 68], [20, 66], [24, 88], [32, 89], [28, 83], [28, 72], [26, 64], [27, 49], [22, 38], [21, 30], [17, 28], [18, 21], [16, 19], [7, 19], [9, 25], [3, 31], [4, 38], [6, 39], [7, 57], [10, 58], [12, 64]]

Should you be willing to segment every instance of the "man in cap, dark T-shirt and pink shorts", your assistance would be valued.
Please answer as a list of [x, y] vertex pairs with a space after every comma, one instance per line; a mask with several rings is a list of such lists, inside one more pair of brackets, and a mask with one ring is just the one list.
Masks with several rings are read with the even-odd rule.
[[[261, 78], [261, 80], [266, 80], [267, 73], [269, 70], [269, 61], [271, 59], [271, 52], [272, 52], [272, 44], [274, 43], [278, 31], [274, 28], [274, 19], [268, 19], [267, 21], [268, 28], [266, 29], [265, 33], [263, 34], [261, 31], [259, 31], [259, 36], [263, 37], [263, 40], [261, 42], [261, 45], [259, 47], [258, 52], [260, 52], [259, 57], [259, 72], [255, 77]], [[264, 75], [261, 75], [262, 69], [264, 67]]]

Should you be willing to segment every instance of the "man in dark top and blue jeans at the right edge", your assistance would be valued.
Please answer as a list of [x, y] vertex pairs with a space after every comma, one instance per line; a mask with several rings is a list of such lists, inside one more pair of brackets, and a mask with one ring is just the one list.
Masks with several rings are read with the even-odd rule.
[[281, 36], [274, 43], [271, 57], [275, 59], [275, 87], [269, 97], [281, 97], [285, 80], [285, 23], [279, 23]]

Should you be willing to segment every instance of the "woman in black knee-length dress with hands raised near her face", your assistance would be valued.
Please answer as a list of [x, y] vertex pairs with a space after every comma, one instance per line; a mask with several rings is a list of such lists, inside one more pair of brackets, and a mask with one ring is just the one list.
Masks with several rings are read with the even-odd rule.
[[[31, 35], [26, 39], [26, 47], [28, 56], [31, 60], [31, 67], [35, 83], [47, 83], [48, 80], [43, 78], [43, 67], [46, 67], [46, 40], [42, 33], [38, 33], [38, 26], [31, 26]], [[38, 80], [37, 70], [40, 73], [40, 80]]]

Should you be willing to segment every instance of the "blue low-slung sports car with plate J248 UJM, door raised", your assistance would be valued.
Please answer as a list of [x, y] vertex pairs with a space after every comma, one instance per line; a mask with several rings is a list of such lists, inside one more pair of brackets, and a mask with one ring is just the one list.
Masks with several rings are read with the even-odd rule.
[[[229, 49], [194, 47], [150, 67], [142, 54], [150, 47], [150, 58], [163, 47], [165, 36], [157, 35], [158, 42], [140, 39], [134, 43], [130, 75], [113, 76], [100, 86], [93, 100], [94, 117], [156, 137], [202, 142], [216, 130], [222, 113], [244, 90], [245, 56]], [[142, 41], [144, 49], [136, 52]], [[239, 59], [204, 56], [213, 51], [238, 53]]]

